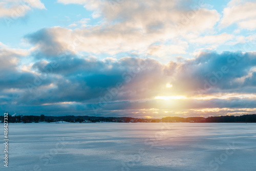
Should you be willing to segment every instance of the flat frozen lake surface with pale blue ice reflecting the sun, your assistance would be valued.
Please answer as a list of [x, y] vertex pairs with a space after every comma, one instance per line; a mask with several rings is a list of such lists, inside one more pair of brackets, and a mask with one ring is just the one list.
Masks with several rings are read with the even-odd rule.
[[9, 139], [0, 170], [256, 168], [255, 123], [13, 123]]

